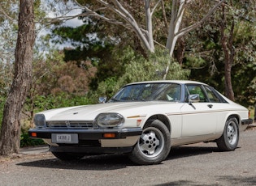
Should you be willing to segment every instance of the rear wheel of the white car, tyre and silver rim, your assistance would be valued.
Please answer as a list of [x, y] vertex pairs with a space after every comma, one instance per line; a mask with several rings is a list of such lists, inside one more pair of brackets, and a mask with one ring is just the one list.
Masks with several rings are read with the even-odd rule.
[[231, 117], [226, 121], [223, 134], [216, 141], [219, 150], [232, 151], [236, 149], [239, 141], [238, 122], [235, 117]]

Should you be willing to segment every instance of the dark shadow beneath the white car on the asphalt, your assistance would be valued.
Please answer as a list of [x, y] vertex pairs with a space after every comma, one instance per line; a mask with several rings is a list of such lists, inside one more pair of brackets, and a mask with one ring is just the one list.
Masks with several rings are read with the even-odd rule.
[[[171, 153], [168, 154], [165, 161], [171, 159], [180, 159], [189, 156], [196, 156], [200, 154], [210, 154], [218, 152], [217, 147], [212, 146], [178, 146], [171, 148]], [[132, 163], [126, 154], [102, 154], [102, 155], [89, 155], [83, 159], [76, 161], [64, 162], [59, 159], [50, 158], [17, 163], [18, 166], [26, 167], [46, 167], [56, 169], [75, 169], [75, 170], [115, 170], [123, 169], [128, 166], [137, 166]]]

